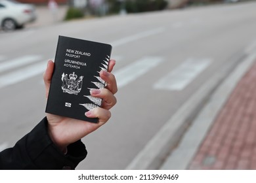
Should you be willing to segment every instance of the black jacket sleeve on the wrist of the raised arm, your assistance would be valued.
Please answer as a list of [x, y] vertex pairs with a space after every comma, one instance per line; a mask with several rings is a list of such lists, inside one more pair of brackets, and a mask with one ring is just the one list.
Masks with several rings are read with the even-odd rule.
[[64, 155], [51, 141], [47, 123], [43, 118], [14, 147], [0, 152], [0, 169], [75, 169], [87, 156], [85, 145], [74, 142]]

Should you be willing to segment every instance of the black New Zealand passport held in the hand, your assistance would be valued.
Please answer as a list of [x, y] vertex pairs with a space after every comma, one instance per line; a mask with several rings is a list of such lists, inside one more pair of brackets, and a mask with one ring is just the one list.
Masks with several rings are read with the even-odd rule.
[[98, 122], [98, 118], [87, 118], [85, 112], [102, 103], [90, 90], [104, 88], [99, 72], [108, 70], [111, 50], [110, 44], [59, 36], [45, 112]]

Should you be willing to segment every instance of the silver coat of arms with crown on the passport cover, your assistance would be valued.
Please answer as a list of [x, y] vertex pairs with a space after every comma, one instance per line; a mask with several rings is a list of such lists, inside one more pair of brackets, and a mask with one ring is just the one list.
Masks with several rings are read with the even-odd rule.
[[68, 74], [62, 74], [61, 88], [64, 93], [77, 95], [77, 93], [81, 91], [83, 86], [83, 76], [79, 76], [79, 78], [77, 79], [77, 75], [75, 75], [75, 72], [73, 72], [73, 74], [70, 74], [69, 76], [70, 78], [68, 78]]

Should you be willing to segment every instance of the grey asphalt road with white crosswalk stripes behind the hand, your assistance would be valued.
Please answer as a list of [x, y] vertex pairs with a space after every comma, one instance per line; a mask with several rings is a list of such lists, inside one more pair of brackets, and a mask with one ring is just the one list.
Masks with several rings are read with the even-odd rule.
[[42, 73], [65, 35], [110, 43], [117, 60], [117, 105], [83, 139], [89, 154], [77, 168], [125, 169], [198, 88], [256, 45], [255, 9], [237, 3], [0, 32], [0, 150], [45, 116]]

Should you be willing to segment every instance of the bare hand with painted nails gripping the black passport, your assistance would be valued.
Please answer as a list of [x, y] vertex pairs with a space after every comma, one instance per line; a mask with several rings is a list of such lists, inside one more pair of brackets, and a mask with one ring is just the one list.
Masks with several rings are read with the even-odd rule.
[[[99, 122], [97, 124], [57, 116], [54, 114], [47, 114], [49, 136], [53, 140], [54, 144], [56, 144], [56, 146], [58, 146], [63, 152], [65, 152], [66, 147], [69, 144], [72, 144], [73, 142], [78, 141], [89, 133], [95, 131], [98, 129], [98, 127], [104, 125], [110, 119], [111, 113], [109, 109], [116, 105], [116, 97], [114, 96], [114, 94], [117, 92], [116, 78], [112, 73], [110, 73], [115, 64], [116, 61], [111, 59], [109, 62], [108, 72], [100, 71], [100, 77], [106, 81], [106, 88], [91, 91], [91, 95], [93, 97], [102, 98], [102, 107], [89, 110], [85, 113], [85, 115], [88, 118], [99, 118]], [[48, 97], [49, 94], [53, 68], [53, 61], [48, 61], [47, 69], [43, 74], [46, 97]]]

